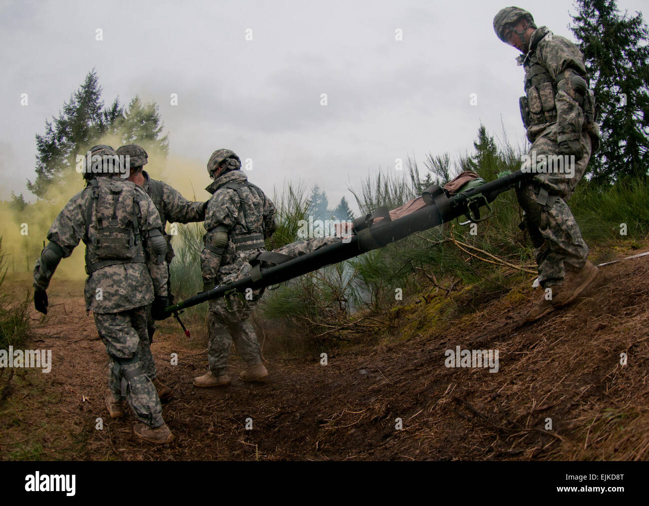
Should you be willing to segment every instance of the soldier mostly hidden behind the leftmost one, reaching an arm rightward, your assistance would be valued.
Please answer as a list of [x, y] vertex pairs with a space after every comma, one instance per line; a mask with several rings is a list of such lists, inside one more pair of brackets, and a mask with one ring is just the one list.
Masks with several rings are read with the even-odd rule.
[[[145, 192], [147, 192], [147, 195], [151, 197], [151, 200], [153, 200], [156, 210], [158, 210], [158, 214], [160, 215], [163, 231], [167, 227], [167, 221], [169, 221], [169, 223], [190, 223], [193, 221], [203, 221], [205, 219], [205, 208], [207, 202], [191, 202], [190, 200], [185, 199], [177, 190], [173, 189], [173, 187], [169, 186], [167, 183], [149, 177], [149, 174], [143, 170], [143, 167], [148, 163], [149, 158], [143, 147], [137, 144], [127, 144], [119, 147], [117, 149], [117, 154], [119, 154], [119, 156], [129, 156], [129, 181], [140, 186]], [[175, 254], [171, 247], [171, 235], [165, 234], [165, 239], [167, 239], [167, 254], [165, 256], [166, 265], [154, 265], [151, 263], [149, 268], [158, 269], [161, 271], [161, 276], [167, 276], [169, 304], [173, 304], [171, 286], [169, 285], [169, 263], [171, 263], [171, 259], [173, 259]], [[169, 313], [165, 316], [168, 317]], [[173, 390], [167, 387], [157, 377], [156, 365], [153, 361], [153, 355], [151, 354], [151, 343], [153, 343], [153, 334], [155, 331], [155, 320], [151, 317], [151, 311], [149, 310], [149, 317], [147, 320], [149, 340], [146, 342], [140, 341], [142, 348], [140, 350], [142, 368], [145, 374], [151, 378], [151, 381], [153, 381], [153, 384], [158, 391], [158, 396], [160, 396], [160, 400], [165, 402], [171, 398]]]

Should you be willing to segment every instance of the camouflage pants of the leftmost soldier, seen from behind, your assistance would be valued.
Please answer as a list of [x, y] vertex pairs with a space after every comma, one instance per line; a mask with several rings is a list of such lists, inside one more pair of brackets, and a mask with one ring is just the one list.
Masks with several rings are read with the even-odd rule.
[[[145, 370], [149, 348], [147, 335], [147, 306], [119, 313], [93, 313], [97, 332], [108, 352], [108, 386], [114, 396], [123, 399], [121, 381], [125, 381], [125, 396], [136, 418], [149, 427], [164, 424], [158, 392]], [[141, 354], [141, 355], [140, 355]], [[135, 359], [135, 360], [133, 360]], [[153, 363], [153, 357], [151, 357]], [[116, 367], [117, 363], [117, 367]], [[123, 363], [119, 367], [119, 363]]]

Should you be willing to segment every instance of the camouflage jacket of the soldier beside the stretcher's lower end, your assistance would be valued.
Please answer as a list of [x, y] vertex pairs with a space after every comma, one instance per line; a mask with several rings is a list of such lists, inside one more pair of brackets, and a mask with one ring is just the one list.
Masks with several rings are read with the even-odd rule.
[[[230, 185], [241, 187], [238, 190], [225, 187]], [[263, 240], [276, 228], [275, 206], [240, 170], [225, 173], [206, 190], [212, 193], [212, 198], [205, 212], [205, 230], [210, 234], [218, 227], [228, 232], [228, 246], [222, 256], [208, 248], [201, 252], [203, 280], [214, 286], [223, 276], [238, 271], [239, 265], [251, 256], [265, 251]]]

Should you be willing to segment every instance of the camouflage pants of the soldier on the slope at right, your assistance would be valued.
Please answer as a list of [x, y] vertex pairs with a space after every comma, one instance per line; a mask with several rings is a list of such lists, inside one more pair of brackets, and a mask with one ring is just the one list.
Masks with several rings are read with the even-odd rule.
[[[537, 173], [517, 189], [526, 230], [535, 247], [539, 283], [543, 287], [561, 285], [565, 269], [581, 269], [588, 256], [589, 249], [567, 204], [591, 158], [589, 134], [582, 133], [580, 144], [583, 158], [574, 163], [574, 175], [550, 171]], [[541, 155], [549, 157], [558, 154], [556, 125], [553, 124], [535, 139], [528, 156], [537, 160], [538, 167]], [[538, 202], [539, 190], [542, 188], [548, 193], [545, 205]]]

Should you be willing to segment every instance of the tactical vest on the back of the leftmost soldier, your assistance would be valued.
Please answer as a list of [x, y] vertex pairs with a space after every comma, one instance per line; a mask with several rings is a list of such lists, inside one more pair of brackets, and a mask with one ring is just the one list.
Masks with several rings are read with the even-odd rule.
[[[86, 274], [120, 263], [144, 263], [138, 208], [140, 199], [134, 184], [106, 177], [88, 183], [92, 199], [86, 208]], [[95, 221], [92, 221], [93, 210]], [[94, 231], [90, 225], [94, 224]]]

